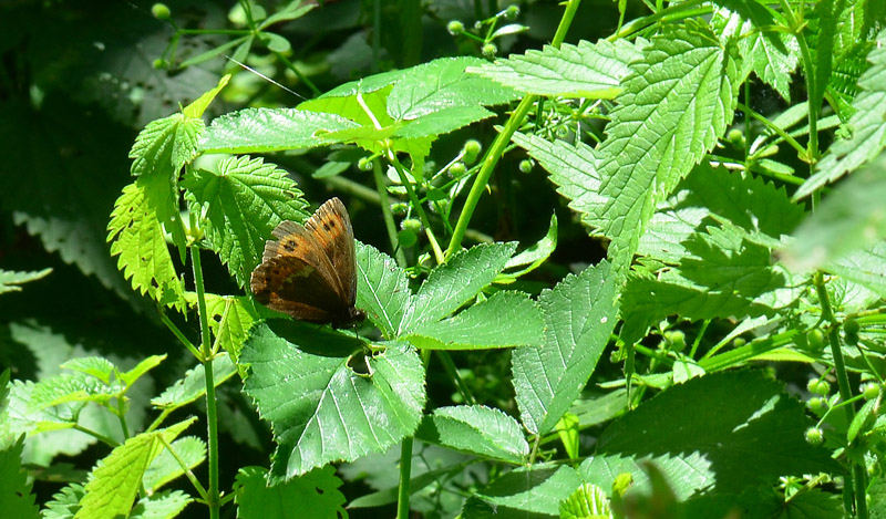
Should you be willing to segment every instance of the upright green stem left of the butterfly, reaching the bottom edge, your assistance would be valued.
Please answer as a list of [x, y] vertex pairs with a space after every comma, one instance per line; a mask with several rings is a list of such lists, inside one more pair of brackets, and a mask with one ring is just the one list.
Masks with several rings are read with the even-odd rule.
[[203, 286], [199, 247], [190, 247], [190, 261], [194, 264], [194, 286], [197, 290], [197, 311], [200, 319], [200, 363], [206, 378], [206, 424], [208, 429], [206, 444], [209, 451], [209, 490], [206, 505], [209, 507], [209, 518], [218, 519], [218, 414], [213, 373], [213, 352], [209, 346], [209, 314], [206, 311], [206, 292]]

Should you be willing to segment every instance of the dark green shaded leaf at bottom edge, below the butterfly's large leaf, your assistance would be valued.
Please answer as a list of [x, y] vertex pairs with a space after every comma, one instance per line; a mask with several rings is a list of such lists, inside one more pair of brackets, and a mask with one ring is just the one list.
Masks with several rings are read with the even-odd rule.
[[238, 517], [287, 519], [291, 517], [337, 519], [348, 517], [341, 479], [336, 469], [317, 468], [301, 477], [268, 487], [267, 470], [244, 467], [234, 481]]

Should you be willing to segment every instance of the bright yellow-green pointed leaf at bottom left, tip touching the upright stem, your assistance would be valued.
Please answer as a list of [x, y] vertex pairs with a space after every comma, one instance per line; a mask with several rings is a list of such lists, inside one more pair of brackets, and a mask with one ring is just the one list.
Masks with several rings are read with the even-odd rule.
[[101, 459], [90, 475], [86, 494], [80, 500], [81, 509], [74, 518], [128, 516], [147, 466], [164, 449], [163, 442], [174, 440], [196, 419], [133, 436]]

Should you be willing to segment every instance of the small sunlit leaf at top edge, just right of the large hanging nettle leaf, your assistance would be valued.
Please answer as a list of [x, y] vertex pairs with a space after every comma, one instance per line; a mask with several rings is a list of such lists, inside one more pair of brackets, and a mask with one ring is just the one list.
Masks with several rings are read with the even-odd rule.
[[739, 37], [739, 52], [745, 68], [791, 101], [791, 74], [796, 69], [800, 46], [796, 39], [775, 27], [787, 23], [777, 11], [759, 2], [721, 1], [723, 8], [713, 24], [723, 28], [722, 37]]

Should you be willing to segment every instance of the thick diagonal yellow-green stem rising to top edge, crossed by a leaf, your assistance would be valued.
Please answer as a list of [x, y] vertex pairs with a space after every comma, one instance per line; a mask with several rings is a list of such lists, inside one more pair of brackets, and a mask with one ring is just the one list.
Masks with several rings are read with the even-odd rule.
[[[573, 19], [580, 3], [580, 0], [569, 0], [566, 3], [566, 10], [557, 27], [557, 32], [550, 41], [550, 45], [555, 49], [558, 49], [566, 38], [566, 32], [569, 31], [569, 25], [573, 23]], [[495, 169], [496, 164], [498, 164], [498, 159], [504, 155], [504, 150], [511, 142], [511, 137], [517, 128], [519, 128], [519, 125], [523, 124], [523, 120], [526, 117], [526, 114], [529, 113], [529, 110], [532, 110], [536, 98], [536, 95], [523, 97], [523, 101], [521, 101], [517, 108], [511, 114], [507, 123], [505, 123], [502, 132], [499, 132], [495, 141], [493, 141], [488, 153], [483, 157], [483, 166], [481, 166], [480, 173], [477, 173], [476, 178], [474, 178], [474, 184], [471, 186], [471, 190], [467, 193], [467, 199], [464, 201], [462, 214], [459, 215], [459, 221], [455, 224], [455, 229], [452, 231], [452, 239], [450, 240], [449, 248], [446, 248], [446, 260], [452, 258], [452, 255], [462, 248], [462, 239], [464, 239], [465, 230], [471, 222], [471, 217], [474, 215], [474, 209], [480, 201], [480, 197], [488, 185], [492, 172]]]

